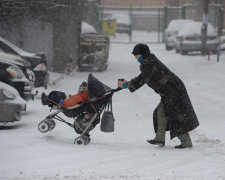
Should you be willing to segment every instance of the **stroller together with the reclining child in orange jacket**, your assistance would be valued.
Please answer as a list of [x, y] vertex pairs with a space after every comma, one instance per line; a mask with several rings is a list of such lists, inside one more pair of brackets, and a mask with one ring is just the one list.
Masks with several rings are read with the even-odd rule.
[[[89, 74], [88, 82], [82, 82], [78, 93], [74, 96], [66, 96], [66, 94], [61, 91], [52, 91], [49, 95], [43, 93], [41, 96], [42, 104], [48, 105], [57, 111], [47, 116], [39, 123], [39, 131], [42, 133], [51, 131], [55, 127], [54, 120], [58, 120], [66, 123], [72, 127], [77, 134], [80, 134], [80, 136], [74, 140], [75, 144], [89, 144], [91, 140], [89, 132], [100, 122], [100, 115], [104, 108], [107, 107], [107, 105], [112, 106], [112, 95], [118, 90], [120, 90], [120, 88], [115, 90], [111, 89]], [[69, 123], [61, 118], [58, 115], [61, 112], [67, 117], [73, 118], [74, 123]], [[111, 120], [114, 121], [113, 117]], [[108, 127], [108, 130], [105, 132], [110, 131], [112, 132], [112, 127]]]

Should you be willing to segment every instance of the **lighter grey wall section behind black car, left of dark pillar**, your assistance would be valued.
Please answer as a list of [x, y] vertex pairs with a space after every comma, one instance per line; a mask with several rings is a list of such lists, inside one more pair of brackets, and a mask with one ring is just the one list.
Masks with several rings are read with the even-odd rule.
[[6, 15], [0, 19], [0, 36], [14, 43], [21, 49], [32, 53], [43, 52], [52, 64], [52, 29], [51, 23], [26, 15]]

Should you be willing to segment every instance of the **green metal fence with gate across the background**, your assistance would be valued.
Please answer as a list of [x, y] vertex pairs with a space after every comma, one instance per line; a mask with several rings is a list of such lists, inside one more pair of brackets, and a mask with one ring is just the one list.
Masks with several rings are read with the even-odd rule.
[[[210, 4], [208, 22], [218, 27], [220, 4]], [[181, 7], [98, 7], [98, 31], [108, 34], [111, 42], [119, 43], [163, 43], [165, 29], [173, 19], [202, 21], [203, 7], [184, 5]]]

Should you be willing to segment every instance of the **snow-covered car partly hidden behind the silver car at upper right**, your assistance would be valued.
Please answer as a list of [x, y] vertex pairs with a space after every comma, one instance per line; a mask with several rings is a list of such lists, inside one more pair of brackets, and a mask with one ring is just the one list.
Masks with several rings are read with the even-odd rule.
[[179, 30], [187, 22], [193, 22], [191, 19], [175, 19], [170, 21], [166, 28], [165, 44], [166, 50], [171, 50], [175, 48], [176, 36]]

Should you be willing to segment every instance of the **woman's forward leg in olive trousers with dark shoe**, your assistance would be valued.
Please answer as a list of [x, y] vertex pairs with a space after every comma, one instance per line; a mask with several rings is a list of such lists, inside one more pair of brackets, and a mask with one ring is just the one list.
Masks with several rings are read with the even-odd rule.
[[167, 119], [164, 112], [163, 104], [161, 103], [157, 110], [157, 123], [158, 129], [156, 132], [156, 136], [152, 140], [147, 140], [150, 144], [159, 145], [160, 147], [165, 146], [165, 135], [166, 135], [166, 125]]

